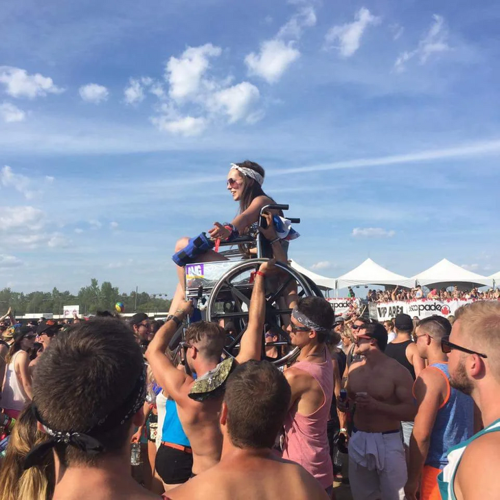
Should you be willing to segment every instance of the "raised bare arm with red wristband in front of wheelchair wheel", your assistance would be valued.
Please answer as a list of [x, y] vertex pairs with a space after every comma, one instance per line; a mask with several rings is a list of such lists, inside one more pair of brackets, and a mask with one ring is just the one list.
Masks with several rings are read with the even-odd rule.
[[240, 342], [240, 352], [236, 356], [238, 363], [245, 363], [249, 359], [260, 361], [262, 354], [262, 334], [264, 333], [264, 321], [266, 319], [266, 274], [275, 269], [274, 260], [260, 264], [255, 273], [253, 291], [250, 299], [249, 320], [247, 330]]

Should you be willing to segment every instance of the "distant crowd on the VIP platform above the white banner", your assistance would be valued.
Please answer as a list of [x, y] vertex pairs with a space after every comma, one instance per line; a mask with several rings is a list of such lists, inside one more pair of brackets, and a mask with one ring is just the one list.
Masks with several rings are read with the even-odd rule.
[[416, 288], [400, 288], [395, 286], [389, 290], [368, 290], [368, 302], [389, 302], [394, 300], [415, 300], [415, 299], [477, 299], [477, 300], [500, 300], [500, 288], [488, 288], [486, 291], [479, 291], [477, 287], [470, 290], [460, 290], [457, 285], [449, 288], [429, 288], [425, 292], [422, 286]]

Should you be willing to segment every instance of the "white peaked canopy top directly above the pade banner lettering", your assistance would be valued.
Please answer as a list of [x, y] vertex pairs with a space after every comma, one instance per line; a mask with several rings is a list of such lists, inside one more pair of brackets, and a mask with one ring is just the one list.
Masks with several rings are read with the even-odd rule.
[[418, 284], [422, 286], [432, 286], [432, 288], [444, 288], [451, 285], [470, 288], [471, 286], [491, 286], [492, 283], [491, 277], [467, 271], [447, 259], [437, 262], [411, 279], [418, 281]]

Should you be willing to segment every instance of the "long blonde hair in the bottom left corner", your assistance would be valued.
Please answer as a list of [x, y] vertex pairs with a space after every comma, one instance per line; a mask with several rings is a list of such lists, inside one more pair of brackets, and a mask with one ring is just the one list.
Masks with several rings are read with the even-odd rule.
[[55, 485], [54, 456], [47, 453], [41, 466], [23, 470], [27, 453], [48, 439], [38, 431], [31, 406], [21, 411], [10, 434], [5, 459], [0, 466], [0, 500], [48, 500]]

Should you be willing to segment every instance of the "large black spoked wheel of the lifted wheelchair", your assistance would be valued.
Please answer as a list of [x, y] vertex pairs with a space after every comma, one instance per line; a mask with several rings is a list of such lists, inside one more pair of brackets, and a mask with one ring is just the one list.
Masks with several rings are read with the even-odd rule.
[[[253, 284], [251, 273], [257, 271], [262, 262], [268, 259], [251, 259], [236, 264], [220, 277], [210, 294], [207, 304], [207, 321], [220, 321], [234, 324], [234, 334], [228, 339], [225, 354], [236, 356], [240, 347], [240, 339], [248, 325], [248, 311]], [[266, 330], [272, 330], [278, 340], [266, 343], [262, 332], [262, 359], [282, 366], [293, 361], [299, 354], [299, 348], [290, 343], [284, 326], [289, 323], [291, 309], [285, 302], [285, 295], [295, 286], [299, 297], [316, 295], [313, 286], [300, 273], [281, 262], [276, 262], [280, 273], [266, 280]], [[277, 357], [266, 355], [266, 349], [274, 351]], [[275, 348], [275, 349], [274, 349]]]

